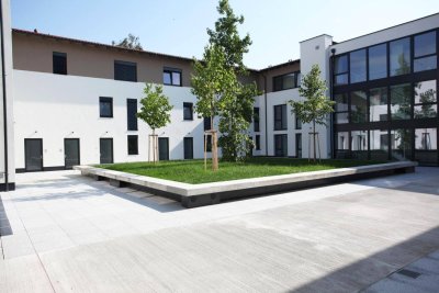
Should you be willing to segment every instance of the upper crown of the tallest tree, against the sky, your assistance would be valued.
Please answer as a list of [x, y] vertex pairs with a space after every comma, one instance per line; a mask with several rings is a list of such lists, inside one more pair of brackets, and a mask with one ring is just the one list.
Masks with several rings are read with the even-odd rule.
[[240, 38], [238, 34], [237, 25], [244, 23], [244, 16], [235, 15], [228, 0], [219, 0], [216, 9], [223, 16], [215, 22], [214, 31], [207, 29], [209, 42], [223, 47], [226, 55], [226, 65], [244, 74], [246, 70], [243, 64], [243, 55], [248, 53], [248, 47], [251, 45], [248, 34], [244, 38]]

